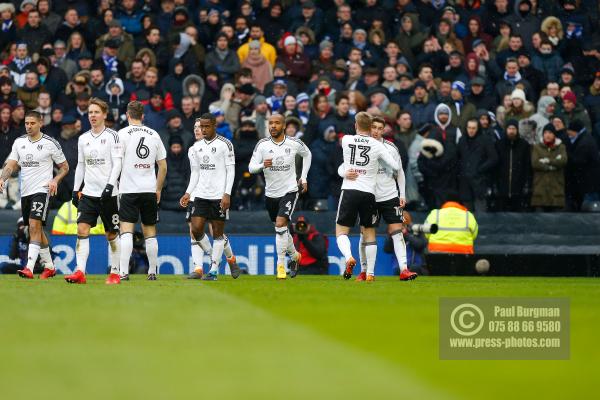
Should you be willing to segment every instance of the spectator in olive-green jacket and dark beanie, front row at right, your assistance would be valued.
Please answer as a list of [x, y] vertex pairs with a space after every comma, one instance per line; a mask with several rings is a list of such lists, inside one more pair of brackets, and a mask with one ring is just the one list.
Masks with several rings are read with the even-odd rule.
[[565, 167], [567, 149], [556, 137], [552, 124], [542, 128], [542, 140], [533, 145], [533, 192], [531, 206], [541, 211], [562, 210], [565, 207]]

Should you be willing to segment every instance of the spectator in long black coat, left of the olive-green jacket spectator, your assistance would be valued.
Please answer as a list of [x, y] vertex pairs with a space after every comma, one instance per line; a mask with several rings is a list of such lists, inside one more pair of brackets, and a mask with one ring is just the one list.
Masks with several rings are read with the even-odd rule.
[[525, 211], [531, 194], [531, 146], [519, 136], [518, 121], [507, 121], [505, 135], [495, 147], [498, 153], [497, 210]]

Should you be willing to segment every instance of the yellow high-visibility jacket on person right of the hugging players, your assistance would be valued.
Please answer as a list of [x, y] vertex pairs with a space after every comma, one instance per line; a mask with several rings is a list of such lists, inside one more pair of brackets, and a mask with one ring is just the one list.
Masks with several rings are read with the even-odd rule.
[[438, 225], [437, 233], [426, 235], [430, 252], [473, 254], [479, 227], [473, 214], [459, 203], [444, 203], [429, 213], [425, 223]]

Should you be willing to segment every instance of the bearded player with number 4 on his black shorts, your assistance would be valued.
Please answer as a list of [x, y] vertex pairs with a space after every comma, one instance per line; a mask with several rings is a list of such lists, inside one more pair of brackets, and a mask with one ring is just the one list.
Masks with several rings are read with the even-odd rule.
[[[298, 190], [305, 193], [308, 186], [306, 176], [310, 169], [312, 154], [299, 139], [284, 134], [285, 117], [274, 114], [269, 118], [271, 137], [261, 139], [254, 148], [248, 165], [252, 174], [264, 172], [266, 187], [266, 208], [271, 221], [275, 223], [275, 248], [277, 250], [277, 279], [287, 277], [285, 266], [286, 253], [290, 256], [290, 277], [298, 273], [300, 253], [294, 247], [294, 239], [288, 225], [298, 201]], [[296, 181], [296, 154], [302, 156], [302, 173]]]

